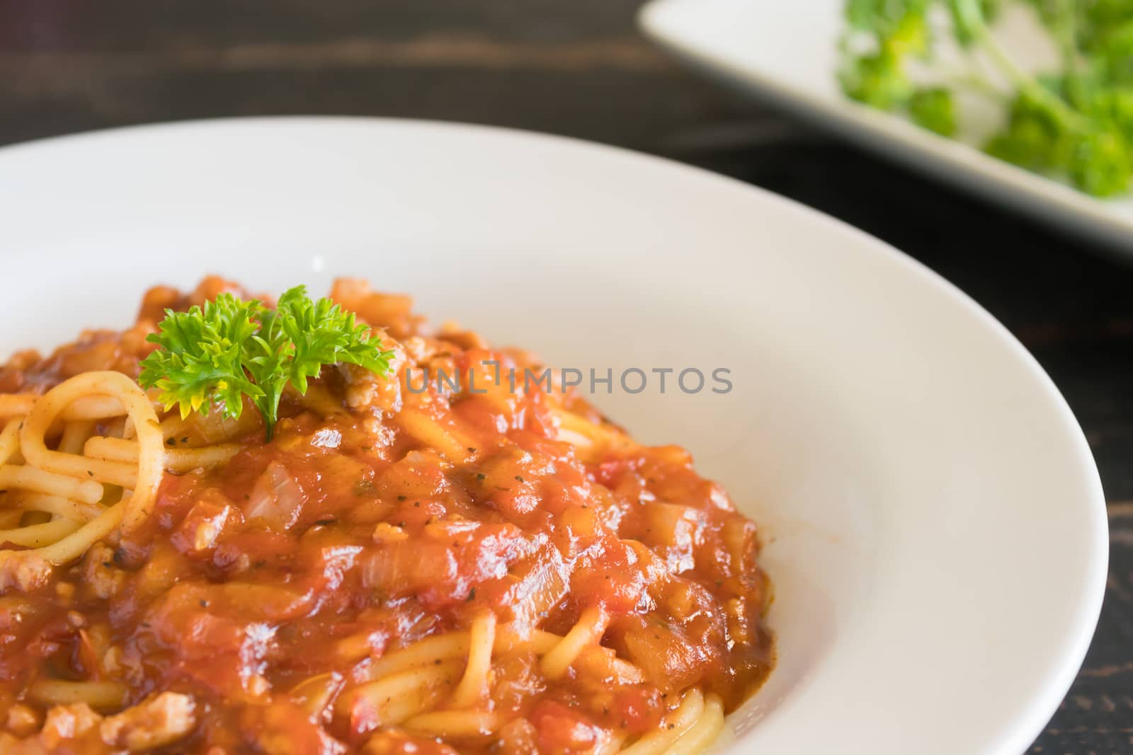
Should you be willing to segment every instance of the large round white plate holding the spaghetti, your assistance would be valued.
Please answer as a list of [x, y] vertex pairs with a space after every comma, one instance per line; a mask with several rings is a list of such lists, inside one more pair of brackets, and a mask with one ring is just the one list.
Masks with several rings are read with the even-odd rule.
[[1030, 355], [879, 241], [690, 168], [382, 120], [125, 129], [0, 151], [0, 353], [222, 272], [412, 292], [560, 366], [724, 367], [596, 396], [765, 527], [780, 662], [731, 753], [1023, 750], [1097, 620], [1090, 451]]

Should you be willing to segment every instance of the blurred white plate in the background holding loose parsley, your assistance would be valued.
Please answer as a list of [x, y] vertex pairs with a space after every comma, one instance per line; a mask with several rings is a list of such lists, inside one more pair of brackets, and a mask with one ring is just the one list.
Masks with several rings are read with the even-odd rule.
[[[653, 0], [639, 17], [650, 37], [723, 80], [833, 128], [863, 146], [1133, 254], [1133, 195], [1096, 199], [972, 146], [990, 113], [976, 112], [969, 144], [847, 100], [838, 88], [837, 38], [845, 0]], [[1049, 44], [1025, 12], [1002, 24], [1024, 68], [1049, 69]], [[944, 50], [944, 54], [948, 54]]]

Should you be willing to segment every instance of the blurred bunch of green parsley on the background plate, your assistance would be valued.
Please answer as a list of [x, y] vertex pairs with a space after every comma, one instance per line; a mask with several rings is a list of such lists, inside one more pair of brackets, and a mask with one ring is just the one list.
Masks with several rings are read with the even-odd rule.
[[[1059, 50], [1057, 70], [1023, 71], [991, 34], [1003, 7], [1028, 6]], [[931, 63], [938, 34], [989, 61], [1010, 83], [1000, 94], [978, 65], [952, 86], [917, 85], [910, 62]], [[961, 88], [1000, 102], [1005, 125], [983, 145], [1000, 160], [1059, 178], [1098, 197], [1133, 180], [1133, 2], [1130, 0], [846, 0], [838, 74], [845, 94], [955, 136]]]

